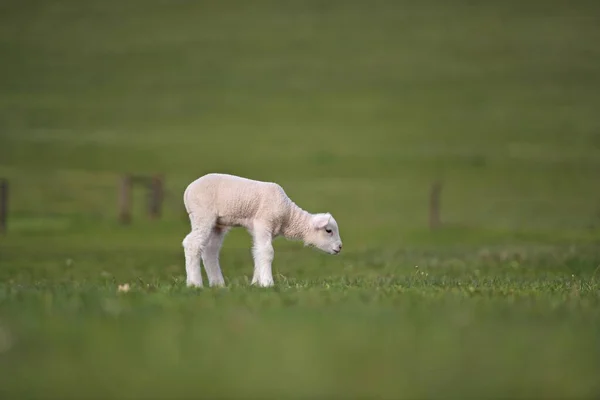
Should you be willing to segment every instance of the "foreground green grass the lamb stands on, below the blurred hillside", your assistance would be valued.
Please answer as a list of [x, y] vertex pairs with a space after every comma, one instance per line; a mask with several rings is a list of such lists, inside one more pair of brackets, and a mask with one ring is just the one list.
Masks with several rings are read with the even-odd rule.
[[9, 252], [4, 397], [600, 390], [597, 246], [388, 248], [331, 262], [301, 250], [278, 252], [278, 285], [267, 290], [248, 287], [245, 252], [226, 252], [227, 288], [202, 291], [184, 287], [175, 251]]

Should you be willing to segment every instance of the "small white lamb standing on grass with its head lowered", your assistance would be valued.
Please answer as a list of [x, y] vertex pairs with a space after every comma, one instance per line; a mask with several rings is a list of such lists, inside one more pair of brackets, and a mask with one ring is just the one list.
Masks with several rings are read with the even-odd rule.
[[183, 240], [187, 285], [202, 287], [200, 261], [210, 286], [223, 286], [219, 252], [227, 231], [244, 227], [252, 235], [252, 284], [273, 286], [272, 240], [302, 240], [330, 254], [342, 250], [338, 225], [330, 213], [311, 214], [298, 207], [276, 183], [228, 174], [204, 175], [185, 189], [183, 202], [191, 232]]

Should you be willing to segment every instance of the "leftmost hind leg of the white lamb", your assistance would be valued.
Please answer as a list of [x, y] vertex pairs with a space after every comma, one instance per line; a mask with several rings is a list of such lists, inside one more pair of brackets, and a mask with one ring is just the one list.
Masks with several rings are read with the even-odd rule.
[[212, 221], [192, 221], [192, 231], [183, 239], [186, 283], [188, 286], [202, 287], [200, 260], [212, 228]]

